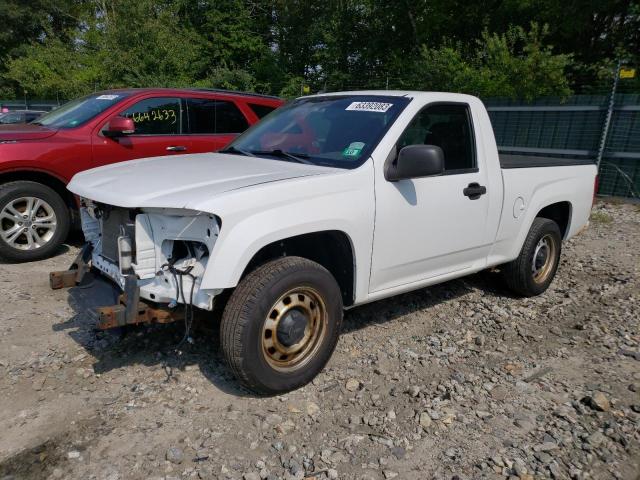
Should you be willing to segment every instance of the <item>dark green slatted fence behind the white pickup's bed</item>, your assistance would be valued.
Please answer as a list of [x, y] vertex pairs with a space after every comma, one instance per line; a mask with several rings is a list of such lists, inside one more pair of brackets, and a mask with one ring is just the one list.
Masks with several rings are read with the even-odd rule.
[[[599, 194], [640, 198], [640, 95], [575, 95], [531, 103], [487, 98], [501, 152], [590, 158], [600, 163]], [[607, 130], [607, 113], [611, 120]]]

